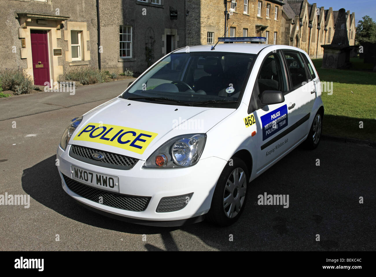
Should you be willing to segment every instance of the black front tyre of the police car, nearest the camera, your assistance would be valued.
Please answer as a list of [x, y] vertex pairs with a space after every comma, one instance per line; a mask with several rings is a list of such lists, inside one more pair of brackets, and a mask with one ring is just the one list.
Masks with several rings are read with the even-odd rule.
[[[229, 226], [236, 222], [246, 205], [249, 187], [247, 166], [239, 158], [233, 157], [232, 160], [232, 165], [228, 162], [218, 179], [211, 207], [206, 215], [206, 219], [209, 222], [218, 226]], [[235, 177], [237, 177], [236, 180], [238, 182], [234, 182]], [[230, 191], [232, 192], [230, 193]], [[224, 197], [228, 197], [226, 207], [224, 207]]]

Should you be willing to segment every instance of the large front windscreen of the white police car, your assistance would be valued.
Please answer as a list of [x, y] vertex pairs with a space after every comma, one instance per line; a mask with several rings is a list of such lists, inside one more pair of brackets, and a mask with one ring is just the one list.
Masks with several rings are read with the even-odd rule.
[[121, 97], [161, 104], [236, 108], [255, 56], [228, 52], [172, 53]]

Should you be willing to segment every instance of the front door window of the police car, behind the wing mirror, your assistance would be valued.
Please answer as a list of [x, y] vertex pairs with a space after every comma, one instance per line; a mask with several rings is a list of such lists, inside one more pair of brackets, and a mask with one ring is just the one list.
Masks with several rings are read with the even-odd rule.
[[257, 83], [259, 94], [265, 90], [287, 91], [287, 81], [282, 59], [278, 53], [270, 53], [261, 66]]

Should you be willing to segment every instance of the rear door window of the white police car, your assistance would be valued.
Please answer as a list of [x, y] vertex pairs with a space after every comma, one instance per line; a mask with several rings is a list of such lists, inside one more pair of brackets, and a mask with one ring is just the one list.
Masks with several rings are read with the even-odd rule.
[[302, 86], [303, 82], [308, 81], [305, 64], [302, 58], [299, 53], [295, 51], [284, 51], [284, 55], [288, 71], [290, 72], [292, 87], [297, 88]]

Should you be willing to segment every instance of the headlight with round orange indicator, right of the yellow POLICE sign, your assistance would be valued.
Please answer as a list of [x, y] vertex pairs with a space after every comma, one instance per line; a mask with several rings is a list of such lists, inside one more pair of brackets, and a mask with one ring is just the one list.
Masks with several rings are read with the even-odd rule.
[[206, 141], [205, 134], [177, 136], [165, 142], [145, 162], [144, 168], [188, 167], [199, 161]]

